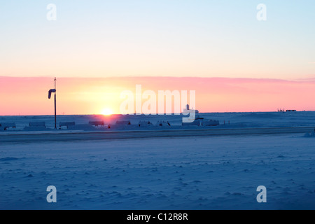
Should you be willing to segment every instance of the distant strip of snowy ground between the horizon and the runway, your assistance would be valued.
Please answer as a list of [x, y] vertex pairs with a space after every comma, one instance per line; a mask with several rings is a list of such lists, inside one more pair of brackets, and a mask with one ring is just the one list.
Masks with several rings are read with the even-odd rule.
[[[232, 127], [298, 127], [310, 126], [315, 127], [315, 111], [298, 111], [298, 112], [248, 112], [248, 113], [200, 113], [200, 117], [213, 120], [219, 120], [220, 128]], [[88, 125], [89, 121], [104, 121], [104, 130], [107, 125], [115, 126], [117, 120], [130, 120], [131, 127], [137, 126], [139, 121], [150, 120], [155, 125], [158, 120], [169, 121], [172, 127], [181, 127], [182, 116], [133, 116], [133, 115], [77, 115], [77, 116], [57, 116], [57, 126], [60, 122], [75, 122], [76, 130], [99, 130], [102, 127], [92, 128]], [[16, 130], [24, 130], [29, 123], [45, 122], [48, 129], [53, 130], [55, 127], [54, 116], [0, 116], [1, 123], [15, 123]], [[229, 124], [230, 122], [230, 124]], [[113, 128], [113, 127], [112, 127]], [[190, 127], [191, 128], [191, 127]], [[10, 131], [9, 129], [8, 131]], [[2, 132], [0, 132], [1, 134]]]

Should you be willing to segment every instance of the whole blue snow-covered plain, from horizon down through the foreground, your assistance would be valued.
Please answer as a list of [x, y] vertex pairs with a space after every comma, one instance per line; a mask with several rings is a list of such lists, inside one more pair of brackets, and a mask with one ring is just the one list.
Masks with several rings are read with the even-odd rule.
[[[207, 113], [203, 117], [220, 120], [221, 125], [208, 128], [213, 130], [197, 127], [198, 131], [274, 131], [159, 137], [146, 136], [155, 131], [144, 130], [143, 137], [68, 141], [52, 141], [52, 134], [39, 132], [39, 140], [46, 141], [25, 141], [36, 136], [22, 131], [29, 122], [45, 121], [52, 127], [53, 116], [0, 117], [0, 123], [17, 125], [16, 131], [0, 132], [0, 209], [315, 209], [315, 138], [304, 135], [304, 131], [314, 132], [314, 112]], [[86, 124], [100, 117], [58, 118]], [[111, 119], [106, 123], [114, 121], [104, 118]], [[137, 119], [181, 123], [179, 116], [127, 120], [137, 123]], [[279, 127], [305, 129], [277, 134]], [[176, 128], [180, 126], [171, 127], [174, 132]], [[108, 132], [95, 130], [81, 134]], [[64, 131], [55, 134], [71, 136]], [[11, 141], [17, 133], [22, 134], [18, 134], [20, 140]], [[57, 203], [47, 202], [48, 186], [57, 188]], [[258, 186], [267, 188], [266, 203], [256, 200]]]

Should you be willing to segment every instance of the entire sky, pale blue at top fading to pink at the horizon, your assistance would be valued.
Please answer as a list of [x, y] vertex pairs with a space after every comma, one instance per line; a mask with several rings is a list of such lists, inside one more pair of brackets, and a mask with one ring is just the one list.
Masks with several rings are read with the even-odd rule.
[[[121, 91], [137, 84], [165, 90], [162, 83], [196, 90], [204, 112], [313, 110], [314, 10], [313, 0], [1, 1], [0, 103], [8, 106], [0, 115], [50, 114], [52, 102], [43, 96], [55, 76], [58, 96], [66, 97], [58, 98], [58, 113], [101, 113], [106, 106], [118, 113]], [[211, 92], [200, 80], [222, 89]], [[295, 92], [290, 103], [280, 90]]]

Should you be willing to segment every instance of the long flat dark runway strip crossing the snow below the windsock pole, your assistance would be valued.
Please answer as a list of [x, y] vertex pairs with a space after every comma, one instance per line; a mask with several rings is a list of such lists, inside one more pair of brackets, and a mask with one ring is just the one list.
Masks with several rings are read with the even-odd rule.
[[167, 137], [218, 137], [260, 134], [304, 134], [313, 132], [312, 127], [263, 127], [263, 128], [224, 128], [200, 130], [123, 130], [97, 132], [32, 132], [0, 134], [0, 144], [29, 143], [42, 141], [92, 141], [106, 139], [143, 139]]

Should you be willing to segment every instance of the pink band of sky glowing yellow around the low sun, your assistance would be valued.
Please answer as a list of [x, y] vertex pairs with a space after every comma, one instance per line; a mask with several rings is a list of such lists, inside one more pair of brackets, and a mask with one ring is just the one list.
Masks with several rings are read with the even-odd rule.
[[[57, 114], [120, 113], [120, 93], [142, 85], [145, 90], [195, 90], [200, 112], [246, 112], [295, 109], [315, 111], [315, 80], [255, 78], [57, 78]], [[0, 116], [54, 113], [52, 77], [1, 77]], [[143, 103], [145, 100], [143, 100]]]

